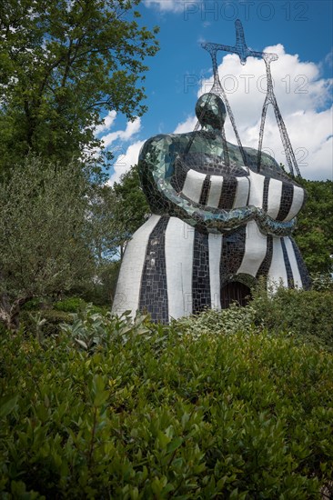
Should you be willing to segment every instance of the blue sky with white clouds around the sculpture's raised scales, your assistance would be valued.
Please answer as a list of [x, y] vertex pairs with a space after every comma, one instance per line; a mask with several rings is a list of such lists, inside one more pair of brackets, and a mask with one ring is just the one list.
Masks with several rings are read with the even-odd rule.
[[[270, 47], [279, 56], [271, 64], [275, 93], [302, 175], [333, 179], [332, 6], [330, 0], [142, 0], [142, 23], [160, 26], [160, 51], [146, 61], [146, 115], [126, 124], [124, 116], [111, 113], [99, 128], [99, 136], [116, 152], [111, 182], [136, 163], [150, 136], [193, 129], [197, 96], [209, 89], [212, 74], [210, 56], [200, 44], [234, 45], [237, 18], [249, 47]], [[264, 63], [248, 58], [241, 66], [237, 55], [222, 52], [217, 63], [242, 143], [256, 147], [265, 98]], [[229, 124], [226, 133], [235, 142]], [[267, 117], [264, 148], [284, 162], [273, 114]]]

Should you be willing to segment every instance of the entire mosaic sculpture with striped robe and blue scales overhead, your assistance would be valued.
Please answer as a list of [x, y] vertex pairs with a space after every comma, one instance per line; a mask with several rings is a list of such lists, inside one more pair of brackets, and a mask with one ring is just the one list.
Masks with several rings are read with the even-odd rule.
[[[241, 62], [248, 55], [264, 58], [268, 68], [278, 56], [249, 51], [239, 21], [236, 27], [234, 47], [204, 47], [212, 55], [215, 78], [211, 91], [197, 101], [194, 132], [156, 135], [139, 155], [153, 215], [126, 246], [113, 306], [117, 314], [147, 311], [154, 321], [168, 323], [207, 307], [224, 308], [233, 299], [244, 304], [260, 276], [288, 287], [310, 285], [291, 237], [305, 192], [261, 152], [267, 105], [278, 109], [269, 79], [255, 150], [241, 145], [217, 74], [217, 50], [236, 52]], [[226, 140], [227, 114], [237, 145]], [[299, 174], [278, 110], [276, 116], [289, 169], [294, 165]]]

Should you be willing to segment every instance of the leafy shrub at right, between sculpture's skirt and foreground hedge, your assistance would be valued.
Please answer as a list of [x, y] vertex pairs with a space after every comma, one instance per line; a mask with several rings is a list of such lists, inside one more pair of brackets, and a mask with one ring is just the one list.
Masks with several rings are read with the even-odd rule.
[[268, 294], [261, 286], [253, 291], [251, 306], [257, 325], [272, 333], [286, 331], [333, 351], [333, 294], [278, 287]]

